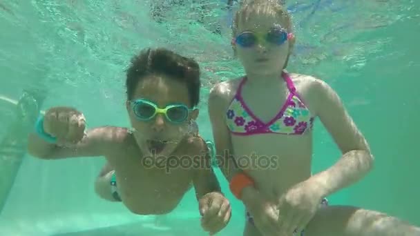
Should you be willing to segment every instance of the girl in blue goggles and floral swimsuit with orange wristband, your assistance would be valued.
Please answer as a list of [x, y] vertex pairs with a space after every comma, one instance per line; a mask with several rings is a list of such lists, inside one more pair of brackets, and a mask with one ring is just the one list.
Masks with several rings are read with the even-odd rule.
[[[285, 70], [295, 42], [287, 10], [251, 1], [232, 29], [246, 76], [211, 90], [209, 115], [219, 161], [228, 163], [220, 168], [247, 208], [244, 235], [420, 235], [420, 228], [383, 213], [327, 206], [325, 197], [364, 177], [374, 157], [327, 83]], [[316, 117], [343, 155], [312, 175]]]

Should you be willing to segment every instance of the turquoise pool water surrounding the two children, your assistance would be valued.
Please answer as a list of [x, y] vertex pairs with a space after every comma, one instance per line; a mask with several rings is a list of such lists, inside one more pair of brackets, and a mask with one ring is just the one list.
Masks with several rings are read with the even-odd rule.
[[[202, 136], [211, 139], [209, 88], [243, 73], [229, 44], [231, 12], [224, 1], [185, 0], [184, 5], [172, 1], [159, 19], [151, 17], [160, 2], [0, 1], [0, 140], [15, 132], [10, 127], [23, 90], [44, 94], [44, 110], [79, 108], [90, 127], [129, 126], [124, 70], [133, 55], [149, 46], [169, 47], [200, 62], [198, 125]], [[298, 0], [287, 8], [297, 37], [289, 70], [330, 83], [376, 157], [372, 173], [330, 196], [330, 203], [380, 210], [420, 224], [415, 175], [420, 159], [414, 149], [420, 105], [420, 49], [414, 41], [420, 38], [419, 1]], [[316, 173], [334, 164], [339, 152], [323, 128], [315, 130], [314, 139]], [[14, 147], [19, 150], [0, 152], [0, 196], [7, 197], [0, 235], [204, 235], [192, 190], [169, 215], [133, 215], [122, 204], [95, 195], [93, 181], [104, 159], [26, 156], [17, 164], [8, 157], [24, 155], [23, 146]], [[231, 222], [218, 235], [241, 235], [243, 206], [216, 173], [233, 205]]]

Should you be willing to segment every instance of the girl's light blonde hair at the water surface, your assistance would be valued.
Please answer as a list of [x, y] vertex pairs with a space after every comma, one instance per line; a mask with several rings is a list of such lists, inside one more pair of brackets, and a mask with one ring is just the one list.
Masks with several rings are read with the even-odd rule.
[[[278, 3], [278, 0], [242, 0], [240, 3], [241, 6], [236, 12], [233, 23], [232, 23], [232, 37], [236, 37], [238, 34], [238, 25], [239, 22], [244, 23], [249, 19], [251, 14], [268, 14], [274, 17], [278, 17], [279, 21], [285, 23], [285, 30], [287, 32], [292, 32], [292, 17], [290, 16], [287, 9]], [[289, 56], [292, 53], [294, 46], [295, 37], [289, 41], [289, 55], [287, 55], [287, 60], [285, 63], [285, 68], [289, 61]], [[233, 48], [234, 55], [236, 56], [236, 50]]]

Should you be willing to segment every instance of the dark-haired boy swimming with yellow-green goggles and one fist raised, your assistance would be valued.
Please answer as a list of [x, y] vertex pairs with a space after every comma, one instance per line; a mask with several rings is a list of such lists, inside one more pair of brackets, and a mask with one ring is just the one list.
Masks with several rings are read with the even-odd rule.
[[202, 227], [217, 233], [229, 222], [229, 201], [220, 193], [206, 142], [189, 132], [198, 116], [198, 63], [166, 49], [147, 49], [126, 75], [126, 109], [132, 130], [105, 126], [84, 134], [74, 108], [46, 111], [30, 135], [28, 150], [41, 159], [104, 156], [96, 193], [122, 201], [133, 213], [170, 213], [193, 184]]

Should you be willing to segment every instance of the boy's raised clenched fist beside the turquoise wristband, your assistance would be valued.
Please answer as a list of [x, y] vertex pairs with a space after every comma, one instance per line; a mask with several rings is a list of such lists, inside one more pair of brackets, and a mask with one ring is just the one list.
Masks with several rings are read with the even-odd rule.
[[82, 112], [74, 108], [55, 107], [47, 110], [44, 117], [44, 130], [59, 143], [77, 143], [84, 137], [86, 120]]

